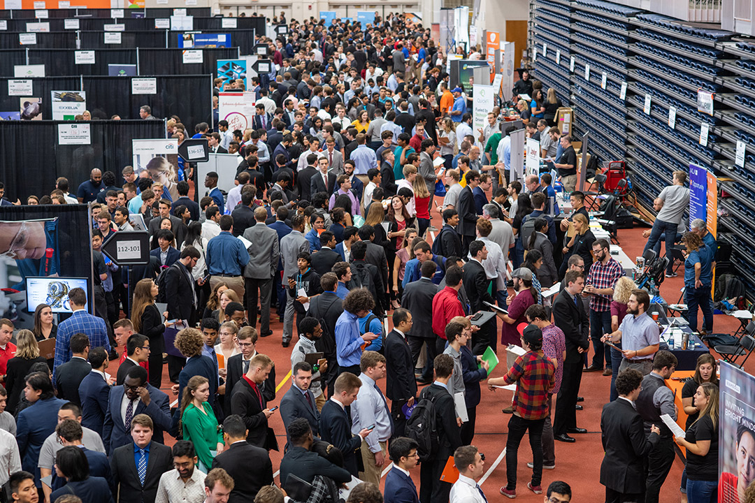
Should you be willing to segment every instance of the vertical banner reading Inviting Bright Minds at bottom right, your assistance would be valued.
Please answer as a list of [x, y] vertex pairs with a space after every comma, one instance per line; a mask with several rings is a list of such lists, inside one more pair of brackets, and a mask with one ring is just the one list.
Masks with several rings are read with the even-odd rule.
[[755, 447], [755, 377], [720, 361], [718, 427], [718, 501], [749, 501], [744, 491], [752, 485]]

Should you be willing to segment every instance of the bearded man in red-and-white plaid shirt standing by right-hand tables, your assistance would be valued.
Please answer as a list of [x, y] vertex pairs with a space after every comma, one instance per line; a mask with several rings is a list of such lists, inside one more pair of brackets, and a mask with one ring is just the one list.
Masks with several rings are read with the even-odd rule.
[[585, 369], [585, 372], [595, 372], [603, 370], [603, 359], [606, 360], [606, 370], [603, 370], [603, 376], [610, 376], [611, 370], [611, 351], [605, 351], [600, 338], [604, 333], [611, 333], [611, 299], [613, 296], [613, 287], [618, 278], [624, 276], [624, 269], [621, 268], [615, 259], [611, 257], [611, 248], [605, 239], [597, 239], [593, 243], [593, 255], [595, 262], [590, 266], [590, 274], [584, 280], [584, 290], [582, 295], [588, 294], [590, 298], [590, 339], [593, 340], [593, 363]]

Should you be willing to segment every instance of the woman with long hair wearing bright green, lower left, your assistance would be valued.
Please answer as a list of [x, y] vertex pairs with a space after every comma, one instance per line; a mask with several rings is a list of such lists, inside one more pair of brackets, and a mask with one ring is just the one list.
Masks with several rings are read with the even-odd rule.
[[210, 383], [206, 377], [194, 376], [189, 379], [181, 399], [180, 431], [183, 440], [191, 440], [199, 458], [199, 470], [210, 470], [212, 459], [223, 451], [223, 434], [217, 424], [210, 397]]

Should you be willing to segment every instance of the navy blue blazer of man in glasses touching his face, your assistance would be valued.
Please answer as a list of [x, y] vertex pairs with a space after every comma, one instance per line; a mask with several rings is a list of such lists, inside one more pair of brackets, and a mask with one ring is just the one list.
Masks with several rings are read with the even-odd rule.
[[[152, 418], [155, 424], [155, 433], [152, 440], [164, 444], [162, 432], [164, 430], [170, 431], [172, 424], [170, 401], [167, 394], [153, 385], [147, 384], [146, 389], [149, 391], [149, 405], [145, 406], [144, 402], [139, 400], [137, 408], [134, 410], [134, 416], [137, 414], [146, 414]], [[105, 444], [105, 451], [109, 456], [112, 456], [112, 452], [120, 446], [127, 446], [134, 442], [131, 439], [131, 432], [126, 430], [121, 416], [121, 401], [123, 400], [124, 393], [125, 389], [123, 386], [115, 386], [110, 390], [107, 411], [105, 413], [105, 423], [102, 430], [102, 440]], [[57, 411], [54, 414], [54, 419], [57, 423]]]

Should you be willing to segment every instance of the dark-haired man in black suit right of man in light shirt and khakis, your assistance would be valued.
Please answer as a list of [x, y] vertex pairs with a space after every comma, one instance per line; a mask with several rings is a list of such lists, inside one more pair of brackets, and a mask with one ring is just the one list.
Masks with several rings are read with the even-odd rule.
[[398, 308], [393, 311], [393, 330], [388, 333], [383, 346], [386, 360], [385, 394], [390, 398], [393, 438], [404, 436], [406, 416], [402, 407], [411, 407], [417, 397], [414, 359], [406, 342], [406, 334], [411, 330], [411, 324], [411, 312], [408, 309]]

